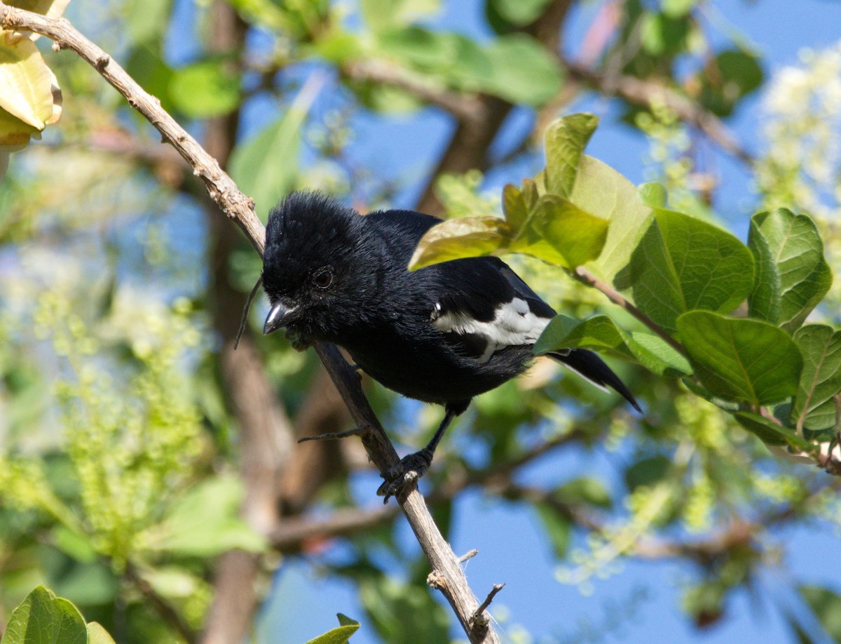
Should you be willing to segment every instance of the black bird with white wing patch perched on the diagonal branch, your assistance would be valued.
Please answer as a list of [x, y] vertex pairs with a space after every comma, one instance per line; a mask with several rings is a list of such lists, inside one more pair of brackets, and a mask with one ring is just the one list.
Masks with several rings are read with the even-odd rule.
[[[337, 344], [374, 380], [443, 405], [426, 447], [383, 474], [378, 494], [423, 476], [452, 419], [470, 399], [520, 374], [552, 307], [499, 258], [467, 258], [410, 272], [423, 234], [439, 220], [411, 210], [362, 216], [322, 194], [290, 194], [266, 228], [262, 283], [271, 304], [263, 333], [285, 327], [299, 346]], [[548, 354], [596, 386], [631, 392], [591, 351]]]

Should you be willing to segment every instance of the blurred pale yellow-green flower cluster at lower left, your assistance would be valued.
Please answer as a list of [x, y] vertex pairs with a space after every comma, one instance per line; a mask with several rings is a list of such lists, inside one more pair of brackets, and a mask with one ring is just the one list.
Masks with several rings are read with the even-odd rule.
[[[126, 302], [126, 306], [130, 303]], [[50, 343], [61, 450], [70, 479], [54, 489], [38, 457], [3, 446], [0, 500], [50, 514], [120, 567], [143, 549], [137, 536], [160, 519], [195, 476], [202, 453], [201, 415], [184, 368], [201, 338], [188, 301], [131, 306], [89, 328], [61, 289], [38, 298], [34, 334]], [[108, 359], [130, 338], [131, 359]], [[66, 500], [67, 486], [77, 498]], [[62, 500], [63, 499], [63, 500]]]

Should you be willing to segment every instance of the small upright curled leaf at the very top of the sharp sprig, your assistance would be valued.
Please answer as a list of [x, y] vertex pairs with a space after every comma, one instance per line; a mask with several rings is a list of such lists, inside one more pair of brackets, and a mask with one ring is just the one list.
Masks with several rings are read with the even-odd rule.
[[598, 125], [599, 117], [595, 114], [569, 114], [549, 124], [543, 135], [547, 192], [569, 197], [584, 147]]

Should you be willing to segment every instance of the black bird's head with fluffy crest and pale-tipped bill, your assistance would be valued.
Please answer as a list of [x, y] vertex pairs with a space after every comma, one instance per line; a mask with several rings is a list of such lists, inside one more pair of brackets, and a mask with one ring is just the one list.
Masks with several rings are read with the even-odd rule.
[[290, 194], [266, 227], [262, 282], [271, 310], [263, 333], [285, 327], [294, 343], [341, 343], [363, 322], [378, 282], [364, 217], [323, 194]]

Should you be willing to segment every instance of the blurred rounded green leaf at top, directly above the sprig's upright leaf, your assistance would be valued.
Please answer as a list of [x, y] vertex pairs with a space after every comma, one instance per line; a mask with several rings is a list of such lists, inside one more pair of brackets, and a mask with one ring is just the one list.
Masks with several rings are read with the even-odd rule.
[[510, 103], [535, 107], [558, 95], [561, 88], [558, 59], [531, 36], [500, 36], [491, 41], [485, 53], [490, 73], [479, 80], [479, 88], [485, 93]]

